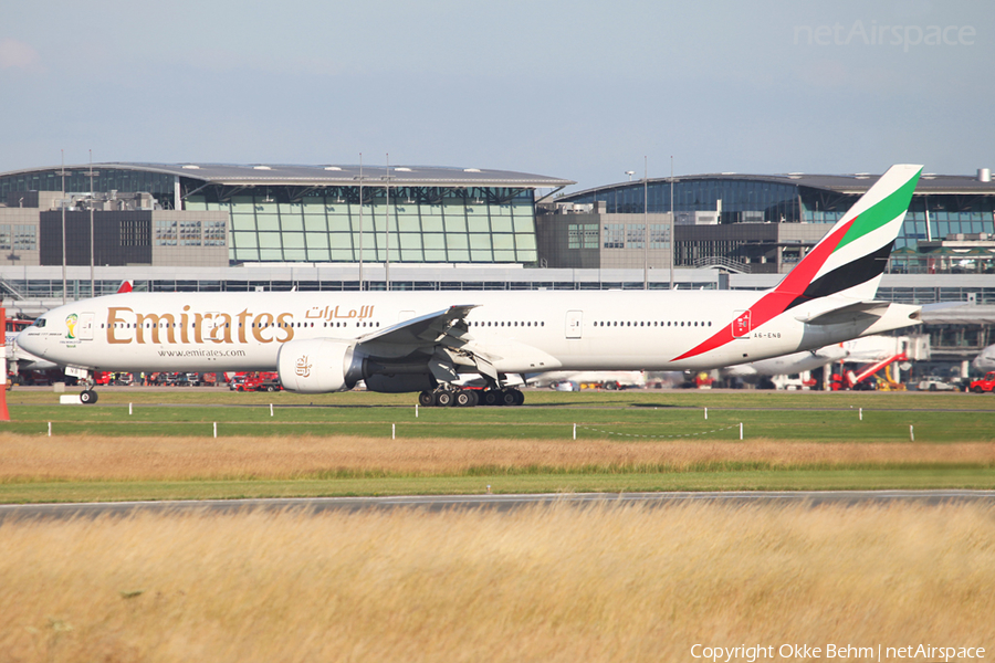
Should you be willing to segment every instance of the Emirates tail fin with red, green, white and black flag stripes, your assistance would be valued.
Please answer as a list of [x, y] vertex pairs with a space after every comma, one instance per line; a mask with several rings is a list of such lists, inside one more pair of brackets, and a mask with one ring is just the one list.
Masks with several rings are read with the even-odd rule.
[[922, 166], [892, 166], [853, 203], [775, 292], [794, 295], [785, 309], [839, 295], [873, 299]]

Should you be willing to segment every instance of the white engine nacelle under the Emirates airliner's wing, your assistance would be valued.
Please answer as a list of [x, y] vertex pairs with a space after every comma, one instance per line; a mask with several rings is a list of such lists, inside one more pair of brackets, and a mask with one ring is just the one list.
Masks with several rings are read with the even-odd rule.
[[280, 383], [290, 391], [348, 391], [363, 379], [363, 361], [354, 343], [326, 338], [291, 340], [276, 354], [276, 372]]

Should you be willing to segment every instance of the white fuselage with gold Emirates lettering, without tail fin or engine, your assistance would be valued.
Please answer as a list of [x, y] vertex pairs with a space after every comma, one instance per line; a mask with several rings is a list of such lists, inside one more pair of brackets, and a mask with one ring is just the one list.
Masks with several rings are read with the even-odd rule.
[[721, 334], [764, 293], [729, 291], [127, 293], [50, 311], [20, 345], [43, 359], [108, 371], [273, 370], [282, 343], [362, 341], [453, 305], [496, 370], [698, 370], [819, 348], [915, 324], [918, 307], [807, 325], [805, 306], [675, 360]]

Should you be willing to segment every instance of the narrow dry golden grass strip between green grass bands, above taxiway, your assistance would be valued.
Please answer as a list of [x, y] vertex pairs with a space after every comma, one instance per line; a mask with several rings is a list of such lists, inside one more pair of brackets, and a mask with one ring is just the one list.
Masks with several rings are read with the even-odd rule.
[[0, 482], [46, 480], [290, 478], [321, 473], [460, 474], [474, 467], [577, 470], [729, 463], [813, 465], [987, 464], [995, 443], [558, 442], [314, 438], [0, 435]]

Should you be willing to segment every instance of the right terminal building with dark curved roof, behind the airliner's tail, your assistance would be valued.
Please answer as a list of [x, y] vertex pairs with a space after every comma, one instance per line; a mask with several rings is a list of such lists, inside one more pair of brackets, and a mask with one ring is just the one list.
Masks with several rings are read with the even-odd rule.
[[[673, 212], [675, 266], [784, 274], [876, 181], [866, 173], [724, 172], [599, 187], [543, 210], [542, 253], [549, 266], [641, 267], [648, 241], [651, 266], [670, 267]], [[920, 178], [889, 273], [995, 274], [988, 169]]]

